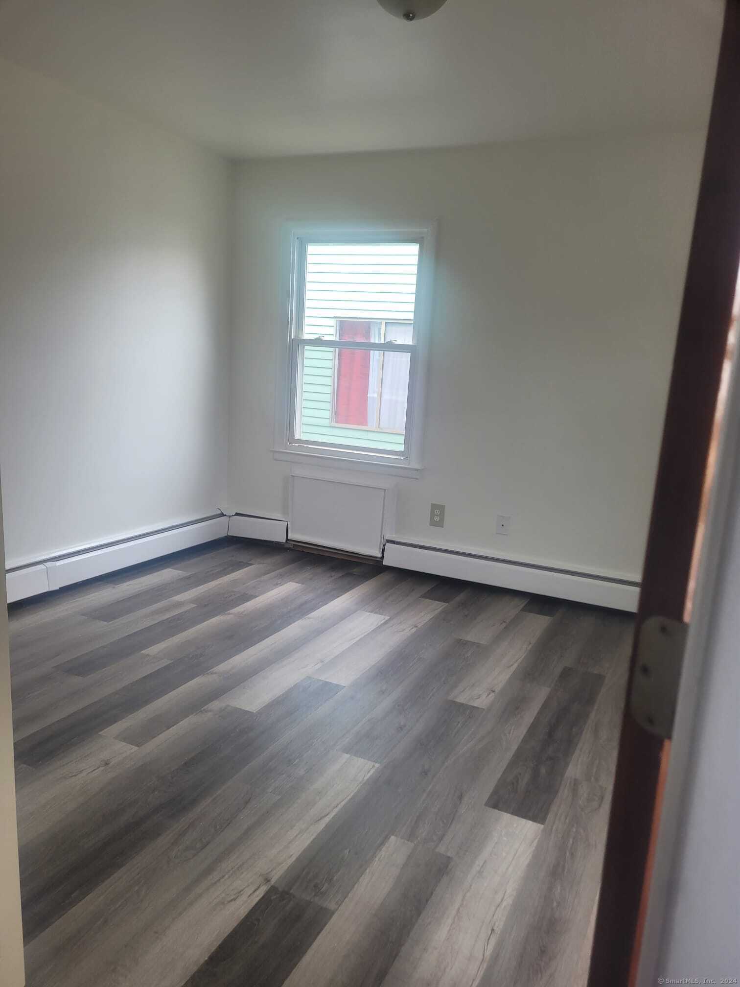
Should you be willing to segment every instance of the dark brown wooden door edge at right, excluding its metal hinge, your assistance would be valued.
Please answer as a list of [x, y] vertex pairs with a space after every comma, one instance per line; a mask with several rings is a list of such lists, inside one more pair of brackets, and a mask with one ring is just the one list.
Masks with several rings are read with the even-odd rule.
[[[677, 15], [678, 12], [677, 12]], [[685, 620], [704, 478], [740, 261], [740, 0], [727, 0], [663, 431], [636, 630]], [[635, 635], [636, 640], [636, 635]], [[630, 682], [634, 672], [631, 658]], [[629, 686], [628, 686], [629, 695]], [[626, 706], [589, 987], [635, 976], [670, 742]]]

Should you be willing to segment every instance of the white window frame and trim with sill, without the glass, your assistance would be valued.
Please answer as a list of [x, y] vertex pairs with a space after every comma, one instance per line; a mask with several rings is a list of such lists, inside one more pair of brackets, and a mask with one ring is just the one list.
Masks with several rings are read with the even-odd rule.
[[[419, 245], [414, 302], [414, 342], [378, 343], [344, 342], [301, 338], [305, 296], [306, 247], [314, 243], [417, 243]], [[426, 385], [429, 322], [431, 315], [432, 277], [436, 223], [412, 228], [290, 226], [282, 238], [281, 301], [283, 333], [278, 347], [275, 380], [275, 434], [272, 453], [275, 459], [322, 463], [343, 469], [371, 470], [391, 476], [418, 477], [422, 471], [422, 442]], [[403, 320], [401, 320], [403, 321]], [[376, 349], [410, 354], [406, 443], [402, 453], [377, 449], [332, 445], [328, 442], [296, 439], [294, 434], [295, 401], [299, 391], [300, 350], [306, 345], [336, 348]]]

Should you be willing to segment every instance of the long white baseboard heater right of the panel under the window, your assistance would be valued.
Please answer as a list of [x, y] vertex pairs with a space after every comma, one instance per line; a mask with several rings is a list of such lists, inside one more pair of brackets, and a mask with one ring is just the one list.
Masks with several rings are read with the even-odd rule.
[[630, 613], [636, 611], [639, 597], [639, 584], [628, 580], [605, 579], [597, 575], [565, 569], [527, 566], [485, 556], [407, 545], [402, 542], [386, 542], [383, 563], [398, 569], [413, 569], [417, 572], [445, 575], [453, 579], [467, 579], [489, 586], [517, 589], [542, 596], [555, 596], [558, 599], [573, 600], [577, 603], [592, 603], [596, 606], [611, 607], [613, 610], [627, 610]]

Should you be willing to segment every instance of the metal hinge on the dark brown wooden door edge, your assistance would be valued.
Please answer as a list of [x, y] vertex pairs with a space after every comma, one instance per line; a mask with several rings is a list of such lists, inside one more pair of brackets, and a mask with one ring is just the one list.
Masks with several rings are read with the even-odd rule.
[[666, 740], [673, 733], [688, 631], [680, 620], [648, 617], [637, 637], [629, 708], [640, 726]]

